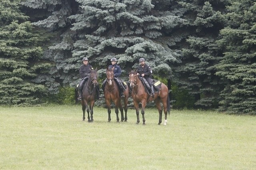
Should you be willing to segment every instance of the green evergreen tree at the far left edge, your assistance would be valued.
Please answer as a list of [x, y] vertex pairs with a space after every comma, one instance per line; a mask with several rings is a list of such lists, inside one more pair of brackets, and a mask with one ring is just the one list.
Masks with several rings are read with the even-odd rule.
[[40, 102], [44, 85], [31, 80], [48, 64], [39, 63], [40, 38], [28, 17], [20, 12], [20, 0], [0, 3], [0, 104], [31, 105]]

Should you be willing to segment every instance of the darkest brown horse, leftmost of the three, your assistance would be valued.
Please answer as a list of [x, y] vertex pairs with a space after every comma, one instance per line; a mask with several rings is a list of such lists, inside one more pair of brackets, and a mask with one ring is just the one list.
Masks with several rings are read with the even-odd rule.
[[[96, 98], [96, 85], [98, 84], [97, 82], [97, 77], [98, 74], [96, 70], [92, 70], [90, 72], [89, 78], [84, 84], [83, 92], [82, 92], [82, 110], [83, 110], [83, 121], [85, 120], [85, 110], [88, 113], [88, 122], [93, 122], [93, 106], [95, 103], [95, 98]], [[88, 103], [90, 102], [90, 109], [88, 106]], [[89, 115], [89, 112], [91, 112], [91, 117]]]

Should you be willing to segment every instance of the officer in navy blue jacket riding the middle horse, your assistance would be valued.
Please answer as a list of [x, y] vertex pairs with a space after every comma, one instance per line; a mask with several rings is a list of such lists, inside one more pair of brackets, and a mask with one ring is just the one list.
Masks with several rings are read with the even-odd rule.
[[[117, 59], [115, 57], [113, 57], [111, 60], [111, 64], [108, 67], [112, 68], [113, 72], [114, 72], [114, 80], [116, 81], [116, 84], [118, 85], [119, 91], [121, 93], [121, 98], [124, 98], [124, 89], [123, 89], [123, 85], [122, 85], [122, 81], [119, 79], [119, 76], [122, 73], [122, 70], [120, 68], [120, 66], [118, 66], [116, 64]], [[105, 85], [106, 85], [107, 79], [104, 80], [104, 82], [102, 83], [102, 90], [104, 91]]]

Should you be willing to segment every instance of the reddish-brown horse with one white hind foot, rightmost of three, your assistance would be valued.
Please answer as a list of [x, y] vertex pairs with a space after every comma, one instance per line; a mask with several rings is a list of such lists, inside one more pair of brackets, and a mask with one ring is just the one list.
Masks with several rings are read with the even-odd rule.
[[[161, 84], [160, 90], [158, 92], [155, 92], [154, 98], [152, 98], [147, 92], [145, 86], [140, 81], [140, 78], [136, 74], [136, 72], [131, 71], [129, 73], [129, 82], [130, 86], [132, 88], [132, 98], [134, 107], [136, 109], [136, 115], [137, 115], [137, 124], [140, 123], [140, 117], [139, 117], [139, 103], [142, 104], [141, 114], [143, 119], [143, 125], [145, 125], [145, 117], [144, 117], [144, 110], [146, 107], [147, 102], [151, 102], [154, 100], [156, 103], [156, 107], [159, 112], [159, 122], [158, 125], [162, 123], [162, 106], [161, 101], [163, 103], [164, 107], [164, 125], [167, 123], [167, 112], [170, 115], [170, 98], [168, 95], [168, 88], [165, 84]], [[156, 94], [157, 93], [157, 94]]]

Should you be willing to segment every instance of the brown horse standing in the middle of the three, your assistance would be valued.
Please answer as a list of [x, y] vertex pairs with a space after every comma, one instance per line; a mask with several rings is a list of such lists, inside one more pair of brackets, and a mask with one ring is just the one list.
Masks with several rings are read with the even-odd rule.
[[[126, 90], [124, 90], [124, 98], [123, 98], [124, 111], [123, 111], [123, 106], [122, 106], [121, 97], [119, 95], [118, 85], [116, 84], [116, 82], [114, 80], [114, 72], [113, 72], [112, 68], [108, 68], [106, 70], [106, 76], [107, 76], [107, 82], [106, 82], [106, 86], [104, 88], [104, 96], [105, 96], [106, 105], [108, 107], [108, 122], [111, 121], [111, 117], [110, 117], [111, 102], [114, 102], [114, 104], [115, 104], [116, 122], [119, 122], [118, 107], [121, 112], [121, 121], [127, 121], [127, 105], [128, 105], [129, 90], [128, 90], [128, 88], [126, 88]], [[124, 117], [124, 112], [125, 112], [125, 117]]]

